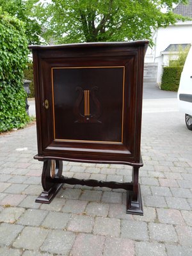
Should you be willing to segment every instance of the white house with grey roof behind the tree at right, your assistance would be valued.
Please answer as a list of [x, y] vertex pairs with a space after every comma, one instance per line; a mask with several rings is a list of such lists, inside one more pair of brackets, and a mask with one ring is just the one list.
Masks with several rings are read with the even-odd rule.
[[[179, 4], [173, 12], [192, 19], [192, 0], [189, 0], [187, 5]], [[177, 58], [180, 47], [184, 49], [192, 43], [192, 20], [178, 21], [167, 28], [158, 28], [152, 38], [155, 45], [148, 47], [145, 66], [156, 68], [156, 81], [161, 86], [163, 67], [168, 66], [170, 60]]]

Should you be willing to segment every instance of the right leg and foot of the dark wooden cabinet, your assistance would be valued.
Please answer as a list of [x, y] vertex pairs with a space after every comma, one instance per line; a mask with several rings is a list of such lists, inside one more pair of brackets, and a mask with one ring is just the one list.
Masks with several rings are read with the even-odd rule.
[[132, 191], [127, 191], [127, 213], [143, 215], [141, 190], [139, 184], [139, 168], [132, 168]]

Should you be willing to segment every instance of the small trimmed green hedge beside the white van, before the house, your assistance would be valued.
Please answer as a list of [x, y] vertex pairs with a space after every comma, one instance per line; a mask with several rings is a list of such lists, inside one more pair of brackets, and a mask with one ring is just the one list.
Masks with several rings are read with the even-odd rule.
[[164, 67], [161, 79], [161, 90], [177, 92], [183, 66]]

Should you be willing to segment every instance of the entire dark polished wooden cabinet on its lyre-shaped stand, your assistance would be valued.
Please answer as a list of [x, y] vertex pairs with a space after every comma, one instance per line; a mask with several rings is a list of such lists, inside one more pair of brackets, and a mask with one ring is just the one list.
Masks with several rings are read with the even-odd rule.
[[[143, 63], [148, 41], [33, 45], [38, 154], [49, 204], [63, 184], [122, 188], [127, 213], [143, 214], [139, 168]], [[132, 182], [62, 176], [62, 161], [132, 166]]]

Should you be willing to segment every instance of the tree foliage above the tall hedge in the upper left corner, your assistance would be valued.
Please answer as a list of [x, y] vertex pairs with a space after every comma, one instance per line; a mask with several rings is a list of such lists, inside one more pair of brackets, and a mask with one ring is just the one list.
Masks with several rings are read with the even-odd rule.
[[33, 17], [33, 8], [38, 0], [0, 0], [1, 12], [8, 13], [24, 22], [28, 44], [40, 44], [42, 27]]

